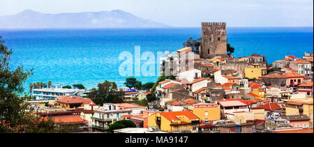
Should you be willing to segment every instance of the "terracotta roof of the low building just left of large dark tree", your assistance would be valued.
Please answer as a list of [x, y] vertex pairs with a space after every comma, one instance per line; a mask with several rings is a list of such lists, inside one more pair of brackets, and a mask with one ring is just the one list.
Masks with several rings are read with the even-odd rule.
[[65, 95], [57, 98], [57, 102], [66, 103], [66, 104], [84, 104], [84, 105], [96, 105], [89, 98], [82, 98], [79, 96], [70, 96]]

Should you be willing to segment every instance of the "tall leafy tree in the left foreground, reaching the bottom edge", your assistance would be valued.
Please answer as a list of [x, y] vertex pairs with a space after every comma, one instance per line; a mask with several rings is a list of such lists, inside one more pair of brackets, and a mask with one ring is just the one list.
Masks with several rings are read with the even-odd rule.
[[24, 72], [23, 67], [17, 66], [11, 70], [9, 61], [13, 52], [3, 42], [0, 36], [0, 133], [62, 132], [63, 127], [35, 115], [26, 101], [27, 95], [20, 96], [24, 92], [23, 83], [33, 69]]

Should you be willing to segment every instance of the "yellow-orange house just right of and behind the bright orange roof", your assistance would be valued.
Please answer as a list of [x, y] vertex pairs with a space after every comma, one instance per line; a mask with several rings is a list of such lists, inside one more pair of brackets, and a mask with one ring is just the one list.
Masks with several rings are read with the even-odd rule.
[[203, 124], [208, 124], [209, 121], [220, 120], [220, 107], [216, 103], [199, 103], [188, 107]]

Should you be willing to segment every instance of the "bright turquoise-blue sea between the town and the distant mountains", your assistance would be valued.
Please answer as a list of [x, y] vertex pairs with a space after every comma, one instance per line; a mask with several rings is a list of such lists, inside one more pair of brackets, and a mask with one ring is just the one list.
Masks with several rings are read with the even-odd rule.
[[[134, 54], [135, 46], [140, 46], [141, 52], [174, 52], [188, 38], [200, 38], [201, 29], [0, 29], [0, 36], [13, 49], [13, 69], [17, 65], [33, 68], [33, 76], [25, 83], [28, 91], [29, 83], [48, 81], [94, 88], [109, 80], [124, 86], [126, 77], [119, 75], [119, 65], [124, 62], [119, 61], [121, 52]], [[233, 56], [262, 54], [268, 63], [287, 54], [301, 57], [313, 52], [313, 27], [228, 28], [227, 39], [235, 48]], [[156, 82], [158, 77], [136, 78], [144, 84]]]

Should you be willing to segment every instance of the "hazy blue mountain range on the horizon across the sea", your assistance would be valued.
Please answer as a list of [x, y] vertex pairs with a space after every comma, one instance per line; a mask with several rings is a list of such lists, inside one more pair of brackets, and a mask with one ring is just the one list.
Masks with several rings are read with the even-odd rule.
[[62, 29], [62, 28], [156, 28], [170, 27], [145, 20], [123, 10], [96, 13], [45, 14], [24, 10], [16, 15], [0, 17], [0, 28], [8, 29]]

